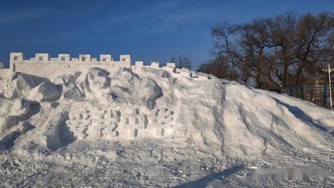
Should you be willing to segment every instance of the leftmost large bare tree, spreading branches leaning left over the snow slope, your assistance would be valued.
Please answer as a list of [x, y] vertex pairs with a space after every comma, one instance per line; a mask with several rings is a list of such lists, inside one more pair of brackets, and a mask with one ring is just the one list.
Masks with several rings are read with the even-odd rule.
[[[236, 25], [227, 21], [211, 27], [214, 48], [212, 54], [223, 57], [231, 65], [246, 72], [261, 87], [261, 76], [266, 76], [271, 83], [278, 85], [270, 72], [270, 64], [266, 57], [268, 42], [265, 35], [265, 20], [257, 18], [251, 24]], [[231, 40], [233, 39], [233, 40]]]

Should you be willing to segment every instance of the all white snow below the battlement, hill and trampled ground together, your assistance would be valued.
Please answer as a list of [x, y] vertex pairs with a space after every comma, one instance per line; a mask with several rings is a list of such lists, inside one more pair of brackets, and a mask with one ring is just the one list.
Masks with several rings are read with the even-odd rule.
[[[334, 111], [190, 72], [210, 79], [144, 66], [0, 79], [1, 187], [334, 185]], [[258, 181], [254, 166], [327, 170]]]

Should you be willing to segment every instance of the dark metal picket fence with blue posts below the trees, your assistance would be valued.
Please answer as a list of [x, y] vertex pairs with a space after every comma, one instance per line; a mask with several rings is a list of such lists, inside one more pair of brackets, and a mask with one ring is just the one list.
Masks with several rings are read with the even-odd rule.
[[[268, 90], [268, 91], [275, 91], [280, 94], [287, 94], [292, 97], [296, 97], [302, 100], [312, 102], [318, 106], [323, 106], [323, 107], [330, 106], [329, 85], [267, 87], [267, 88], [261, 88], [261, 89]], [[332, 95], [333, 95], [334, 94], [333, 85], [331, 86], [331, 89], [332, 89]]]

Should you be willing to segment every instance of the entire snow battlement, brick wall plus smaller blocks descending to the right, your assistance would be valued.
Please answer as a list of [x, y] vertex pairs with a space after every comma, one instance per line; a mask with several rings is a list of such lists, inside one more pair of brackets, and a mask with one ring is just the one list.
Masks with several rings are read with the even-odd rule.
[[89, 54], [80, 54], [78, 58], [72, 58], [70, 54], [58, 54], [58, 58], [51, 58], [50, 54], [36, 54], [34, 58], [25, 59], [23, 53], [10, 53], [10, 72], [22, 72], [28, 75], [36, 76], [40, 79], [49, 79], [52, 81], [55, 77], [64, 72], [75, 73], [98, 67], [113, 73], [121, 67], [129, 68], [138, 74], [142, 68], [157, 69], [168, 72], [174, 78], [188, 78], [191, 80], [204, 81], [208, 76], [193, 76], [188, 69], [177, 69], [175, 63], [167, 63], [161, 67], [160, 63], [152, 62], [150, 66], [145, 66], [144, 62], [137, 62], [131, 65], [130, 55], [121, 55], [120, 61], [114, 61], [111, 55], [100, 55], [100, 61], [92, 58]]

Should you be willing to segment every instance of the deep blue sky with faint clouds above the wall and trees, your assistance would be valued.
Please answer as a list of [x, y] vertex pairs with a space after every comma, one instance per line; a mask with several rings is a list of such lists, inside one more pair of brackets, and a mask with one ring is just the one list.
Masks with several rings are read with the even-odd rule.
[[[319, 1], [9, 1], [0, 2], [0, 62], [11, 52], [130, 54], [135, 61], [168, 62], [184, 54], [191, 61], [212, 59], [210, 26], [247, 22], [257, 16], [294, 11], [333, 11]], [[197, 63], [199, 64], [199, 63]], [[196, 65], [196, 63], [194, 63]], [[196, 69], [196, 67], [193, 67]]]

